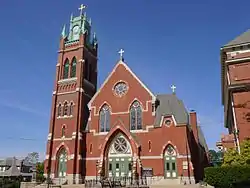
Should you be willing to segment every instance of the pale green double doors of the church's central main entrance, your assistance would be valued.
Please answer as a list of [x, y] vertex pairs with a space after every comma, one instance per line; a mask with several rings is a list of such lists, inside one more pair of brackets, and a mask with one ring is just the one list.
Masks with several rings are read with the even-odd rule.
[[132, 174], [132, 162], [130, 157], [110, 157], [108, 165], [109, 177], [125, 177]]

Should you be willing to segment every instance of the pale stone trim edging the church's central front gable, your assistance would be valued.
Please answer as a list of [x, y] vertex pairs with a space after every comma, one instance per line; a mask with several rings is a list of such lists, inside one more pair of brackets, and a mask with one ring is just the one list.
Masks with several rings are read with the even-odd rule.
[[102, 88], [105, 86], [105, 84], [108, 82], [108, 80], [111, 78], [111, 76], [114, 74], [115, 70], [117, 69], [117, 67], [119, 65], [122, 65], [125, 67], [126, 70], [128, 70], [128, 72], [144, 87], [144, 89], [152, 96], [152, 100], [155, 100], [155, 95], [147, 88], [147, 86], [135, 75], [135, 73], [133, 73], [133, 71], [129, 68], [129, 66], [123, 61], [123, 60], [119, 60], [117, 62], [117, 64], [115, 65], [115, 67], [113, 68], [112, 72], [108, 75], [108, 77], [106, 78], [106, 80], [102, 83], [101, 87], [97, 90], [97, 92], [95, 93], [95, 95], [92, 97], [92, 99], [89, 101], [88, 103], [88, 107], [89, 109], [91, 108], [91, 104], [92, 102], [95, 100], [95, 98], [97, 97], [97, 95], [101, 92]]

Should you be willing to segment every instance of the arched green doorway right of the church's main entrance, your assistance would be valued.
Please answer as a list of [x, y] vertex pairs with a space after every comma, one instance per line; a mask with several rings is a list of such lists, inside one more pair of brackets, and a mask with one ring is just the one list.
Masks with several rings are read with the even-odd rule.
[[166, 179], [178, 178], [176, 150], [172, 145], [167, 145], [164, 151], [164, 177]]

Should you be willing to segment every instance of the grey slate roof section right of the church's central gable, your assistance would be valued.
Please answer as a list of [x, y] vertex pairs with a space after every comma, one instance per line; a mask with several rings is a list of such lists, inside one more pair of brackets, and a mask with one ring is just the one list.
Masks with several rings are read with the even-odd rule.
[[188, 112], [175, 94], [157, 95], [159, 106], [156, 108], [155, 126], [160, 126], [162, 116], [173, 115], [178, 124], [188, 125]]

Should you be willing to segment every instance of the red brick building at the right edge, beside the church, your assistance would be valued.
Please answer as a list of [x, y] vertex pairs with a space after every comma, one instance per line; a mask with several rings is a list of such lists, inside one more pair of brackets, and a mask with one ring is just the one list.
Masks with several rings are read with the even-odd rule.
[[229, 132], [217, 143], [222, 149], [235, 147], [240, 150], [239, 144], [250, 136], [249, 72], [250, 30], [221, 48], [222, 104]]

